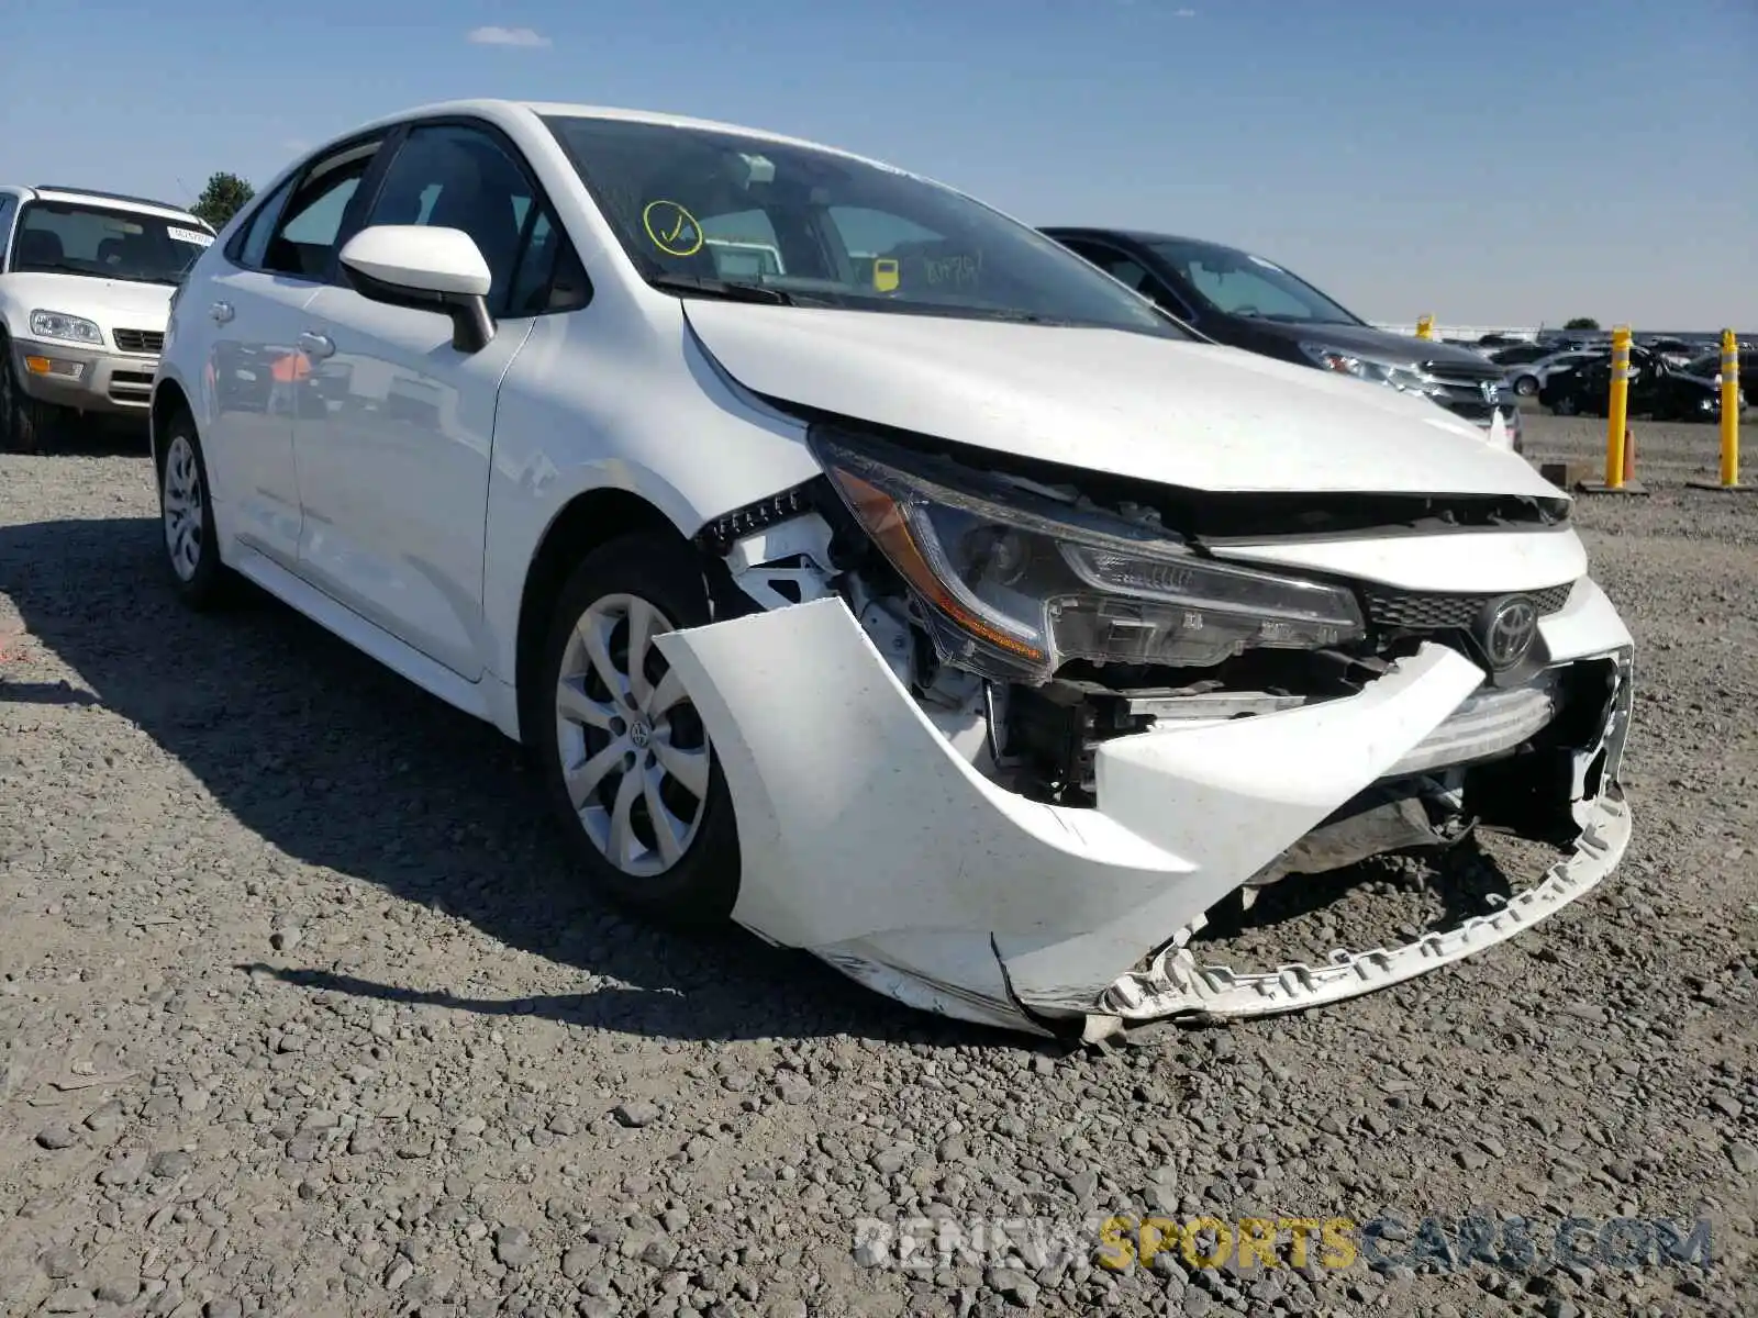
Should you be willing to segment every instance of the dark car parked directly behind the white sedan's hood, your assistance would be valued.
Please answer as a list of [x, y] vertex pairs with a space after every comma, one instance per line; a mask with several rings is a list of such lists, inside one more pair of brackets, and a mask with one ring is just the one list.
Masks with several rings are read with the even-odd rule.
[[1501, 369], [1473, 348], [1375, 329], [1299, 276], [1218, 243], [1120, 228], [1042, 232], [1217, 343], [1429, 399], [1522, 452]]

